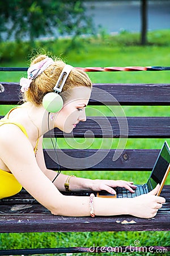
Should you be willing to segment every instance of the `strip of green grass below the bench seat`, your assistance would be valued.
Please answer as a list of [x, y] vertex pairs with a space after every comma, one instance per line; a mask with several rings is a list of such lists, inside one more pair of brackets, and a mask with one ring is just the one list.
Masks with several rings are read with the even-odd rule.
[[[24, 233], [24, 234], [3, 234], [0, 240], [4, 249], [8, 249], [7, 241], [10, 241], [10, 248], [23, 247], [64, 247], [64, 246], [135, 246], [136, 240], [140, 246], [164, 246], [169, 245], [168, 232], [85, 232], [85, 233]], [[24, 246], [23, 246], [24, 245]], [[56, 254], [57, 255], [57, 254]], [[66, 255], [66, 254], [62, 254]], [[73, 255], [90, 255], [88, 253]], [[97, 254], [92, 254], [97, 255]], [[108, 255], [108, 254], [100, 254]], [[113, 254], [114, 255], [114, 254]], [[115, 255], [122, 255], [121, 253]], [[131, 255], [127, 253], [126, 255]], [[139, 253], [133, 253], [139, 255]], [[151, 253], [142, 253], [151, 255]], [[163, 255], [156, 253], [156, 255]], [[168, 255], [168, 254], [165, 254]]]

